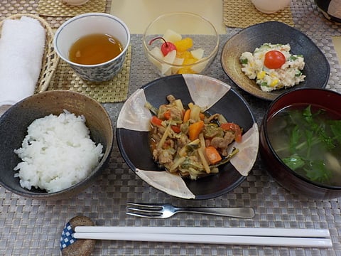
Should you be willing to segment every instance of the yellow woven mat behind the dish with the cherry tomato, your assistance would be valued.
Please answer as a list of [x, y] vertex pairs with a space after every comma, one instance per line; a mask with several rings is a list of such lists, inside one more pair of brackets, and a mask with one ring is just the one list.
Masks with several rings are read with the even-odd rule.
[[294, 25], [290, 6], [274, 14], [263, 14], [250, 0], [224, 0], [223, 8], [224, 24], [229, 27], [247, 28], [265, 21], [281, 21], [289, 26]]

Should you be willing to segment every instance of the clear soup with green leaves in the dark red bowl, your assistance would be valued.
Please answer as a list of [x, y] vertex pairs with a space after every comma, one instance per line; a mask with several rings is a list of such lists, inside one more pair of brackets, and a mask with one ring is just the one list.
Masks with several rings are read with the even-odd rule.
[[268, 120], [271, 145], [297, 174], [341, 186], [341, 117], [313, 105], [287, 107]]

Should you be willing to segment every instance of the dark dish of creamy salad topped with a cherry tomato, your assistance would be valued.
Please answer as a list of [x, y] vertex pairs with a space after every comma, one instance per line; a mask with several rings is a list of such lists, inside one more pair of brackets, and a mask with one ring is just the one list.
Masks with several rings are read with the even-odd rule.
[[330, 65], [304, 33], [267, 21], [242, 29], [222, 49], [222, 68], [242, 90], [274, 100], [298, 88], [325, 88]]

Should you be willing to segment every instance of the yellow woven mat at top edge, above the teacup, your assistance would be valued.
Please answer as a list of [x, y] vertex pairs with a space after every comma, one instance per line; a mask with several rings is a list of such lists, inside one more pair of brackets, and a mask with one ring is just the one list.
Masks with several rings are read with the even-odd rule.
[[80, 6], [65, 4], [62, 0], [39, 0], [38, 14], [52, 17], [72, 17], [90, 12], [104, 12], [105, 0], [89, 0]]

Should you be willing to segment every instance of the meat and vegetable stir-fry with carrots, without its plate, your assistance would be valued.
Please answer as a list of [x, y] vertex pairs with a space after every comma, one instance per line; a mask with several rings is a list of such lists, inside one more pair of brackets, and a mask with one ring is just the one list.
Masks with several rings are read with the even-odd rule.
[[222, 114], [204, 114], [193, 103], [185, 108], [173, 95], [167, 100], [169, 103], [158, 109], [146, 103], [153, 113], [150, 146], [154, 161], [171, 173], [191, 179], [216, 174], [218, 166], [238, 153], [229, 144], [242, 141], [242, 129], [227, 122]]

